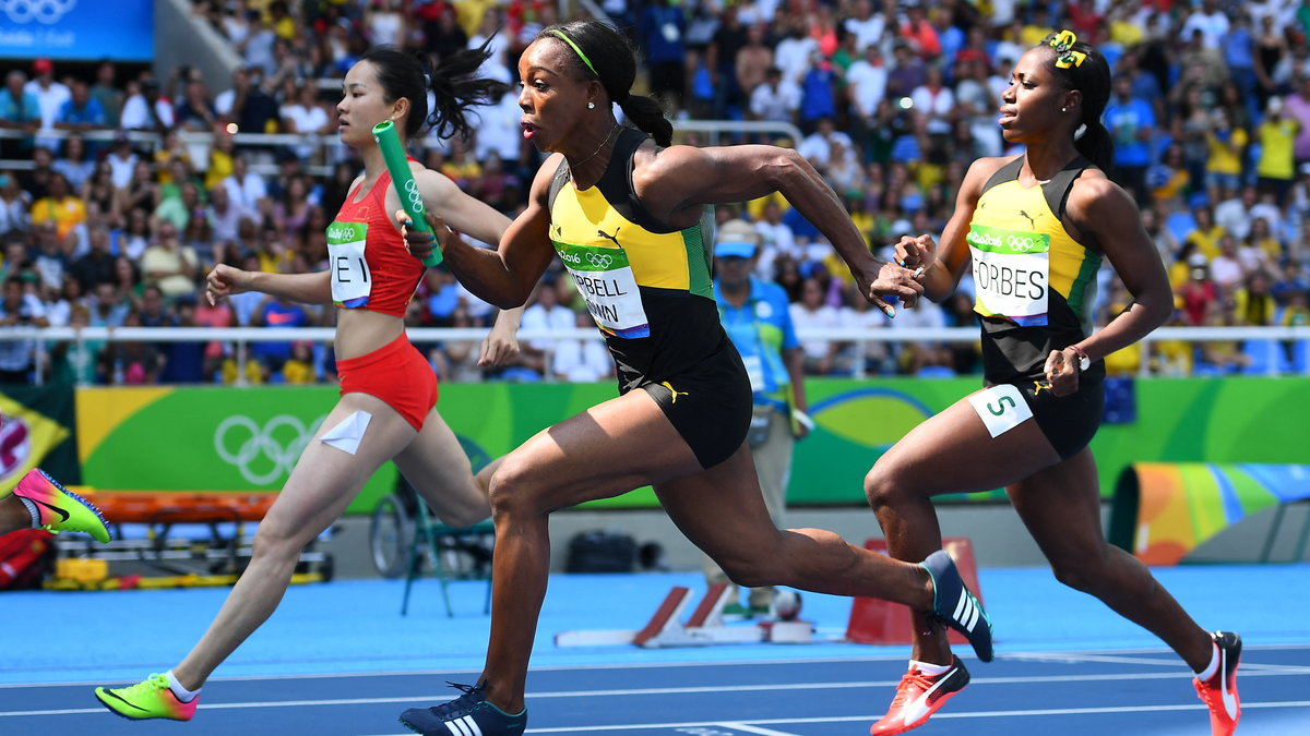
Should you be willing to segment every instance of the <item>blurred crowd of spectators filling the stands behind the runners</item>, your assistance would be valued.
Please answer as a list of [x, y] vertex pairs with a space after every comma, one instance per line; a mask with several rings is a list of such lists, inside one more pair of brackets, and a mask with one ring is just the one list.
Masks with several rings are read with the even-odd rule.
[[[766, 120], [728, 140], [791, 145], [838, 193], [869, 246], [939, 236], [969, 162], [1017, 155], [997, 126], [1009, 69], [1055, 29], [1111, 60], [1112, 177], [1138, 202], [1169, 268], [1174, 325], [1306, 325], [1310, 263], [1310, 0], [604, 0], [645, 56], [643, 84], [676, 119]], [[0, 326], [329, 326], [334, 310], [262, 295], [211, 306], [217, 262], [321, 270], [324, 228], [359, 164], [334, 143], [338, 81], [372, 45], [440, 56], [491, 39], [483, 76], [506, 93], [472, 140], [428, 139], [424, 162], [511, 216], [541, 157], [517, 120], [516, 59], [555, 22], [542, 0], [196, 0], [232, 43], [231, 79], [182, 65], [168, 79], [102, 62], [64, 72], [35, 59], [0, 92]], [[793, 126], [793, 127], [787, 127]], [[798, 130], [791, 135], [789, 130]], [[151, 135], [143, 135], [151, 134]], [[244, 134], [293, 134], [266, 145]], [[680, 135], [701, 143], [694, 134]], [[286, 143], [293, 140], [296, 143]], [[781, 198], [720, 207], [761, 234], [757, 276], [779, 283], [798, 327], [972, 325], [972, 284], [886, 320], [817, 230]], [[557, 265], [558, 267], [558, 265]], [[1129, 296], [1108, 266], [1095, 320]], [[494, 310], [430, 270], [414, 326], [486, 326]], [[587, 325], [558, 270], [524, 327]], [[477, 346], [426, 344], [444, 380], [604, 380], [597, 340], [525, 340], [521, 364], [487, 373]], [[1242, 371], [1241, 343], [1162, 343], [1165, 375]], [[954, 375], [973, 344], [913, 339], [804, 343], [816, 376]], [[1280, 360], [1303, 367], [1303, 346]], [[1136, 372], [1128, 350], [1112, 372]], [[1300, 361], [1300, 363], [1298, 363]], [[238, 376], [229, 343], [73, 342], [41, 354], [0, 342], [0, 381], [34, 372], [79, 384], [330, 381], [330, 346], [259, 343]]]

